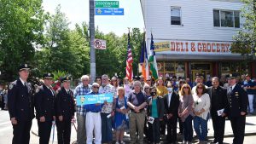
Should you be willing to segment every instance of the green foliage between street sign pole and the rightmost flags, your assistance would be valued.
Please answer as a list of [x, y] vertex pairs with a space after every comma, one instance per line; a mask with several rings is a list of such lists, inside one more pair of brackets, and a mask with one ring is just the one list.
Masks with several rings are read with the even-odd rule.
[[[113, 76], [117, 73], [121, 77], [125, 77], [125, 67], [127, 58], [128, 34], [122, 37], [116, 36], [113, 32], [104, 35], [96, 29], [96, 38], [102, 38], [107, 41], [107, 49], [96, 49], [96, 75], [108, 74]], [[131, 53], [133, 57], [133, 72], [137, 74], [137, 66], [139, 63], [140, 44], [143, 40], [143, 33], [138, 28], [131, 31]]]

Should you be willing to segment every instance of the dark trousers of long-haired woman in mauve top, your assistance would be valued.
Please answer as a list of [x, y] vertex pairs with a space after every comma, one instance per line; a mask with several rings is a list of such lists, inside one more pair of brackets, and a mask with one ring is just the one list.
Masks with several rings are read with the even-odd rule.
[[183, 127], [184, 127], [184, 141], [192, 141], [193, 138], [193, 128], [192, 128], [192, 119], [193, 117], [189, 115], [185, 121], [183, 122]]

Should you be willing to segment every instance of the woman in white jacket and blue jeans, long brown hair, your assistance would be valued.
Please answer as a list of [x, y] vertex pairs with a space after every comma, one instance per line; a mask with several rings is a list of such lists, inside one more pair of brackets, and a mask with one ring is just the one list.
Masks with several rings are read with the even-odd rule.
[[210, 97], [204, 84], [196, 84], [193, 95], [194, 108], [194, 129], [200, 143], [206, 143], [207, 138], [207, 116], [210, 108]]

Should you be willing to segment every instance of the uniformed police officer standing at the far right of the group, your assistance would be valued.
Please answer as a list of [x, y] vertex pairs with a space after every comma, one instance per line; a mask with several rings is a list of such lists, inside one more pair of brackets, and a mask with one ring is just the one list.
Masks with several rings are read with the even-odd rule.
[[236, 75], [230, 74], [228, 77], [230, 86], [227, 88], [229, 108], [224, 110], [228, 114], [231, 122], [234, 144], [242, 144], [247, 115], [248, 97], [241, 85], [236, 84]]

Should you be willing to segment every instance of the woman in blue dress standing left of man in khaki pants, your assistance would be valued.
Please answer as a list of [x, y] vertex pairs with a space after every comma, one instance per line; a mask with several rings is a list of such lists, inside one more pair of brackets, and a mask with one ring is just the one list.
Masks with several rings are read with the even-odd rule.
[[123, 141], [124, 132], [128, 129], [128, 112], [127, 100], [125, 97], [125, 89], [119, 87], [117, 89], [118, 97], [116, 100], [116, 108], [114, 114], [114, 128], [116, 130], [116, 143], [115, 144], [125, 144]]

